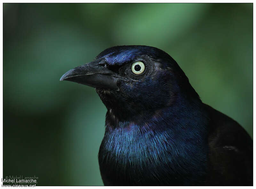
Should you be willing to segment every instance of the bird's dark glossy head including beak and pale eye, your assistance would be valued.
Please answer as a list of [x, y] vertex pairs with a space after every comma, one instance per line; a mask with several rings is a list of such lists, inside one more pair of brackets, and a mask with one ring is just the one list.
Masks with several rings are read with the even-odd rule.
[[116, 46], [66, 72], [68, 80], [96, 88], [108, 113], [119, 120], [173, 106], [198, 95], [176, 61], [149, 46]]

